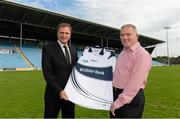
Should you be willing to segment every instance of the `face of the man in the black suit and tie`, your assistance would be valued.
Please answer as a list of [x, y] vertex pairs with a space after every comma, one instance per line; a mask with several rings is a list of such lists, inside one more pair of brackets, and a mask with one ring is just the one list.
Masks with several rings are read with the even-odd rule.
[[57, 31], [57, 37], [61, 43], [67, 44], [69, 39], [71, 38], [71, 31], [69, 27], [60, 27]]

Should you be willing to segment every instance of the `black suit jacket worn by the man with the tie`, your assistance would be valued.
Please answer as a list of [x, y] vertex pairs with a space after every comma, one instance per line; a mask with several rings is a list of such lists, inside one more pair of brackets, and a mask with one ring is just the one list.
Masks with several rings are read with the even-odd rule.
[[42, 70], [46, 80], [45, 100], [59, 100], [59, 92], [64, 89], [68, 81], [71, 70], [78, 59], [76, 48], [69, 46], [69, 49], [72, 63], [68, 66], [58, 42], [43, 47]]

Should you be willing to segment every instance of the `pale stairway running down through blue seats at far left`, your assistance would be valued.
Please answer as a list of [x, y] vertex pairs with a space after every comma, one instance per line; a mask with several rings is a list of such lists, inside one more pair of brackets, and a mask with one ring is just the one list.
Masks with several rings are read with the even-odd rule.
[[26, 55], [22, 52], [22, 50], [20, 48], [18, 48], [16, 45], [15, 45], [15, 48], [16, 50], [19, 52], [19, 54], [21, 55], [21, 57], [24, 59], [24, 61], [26, 62], [26, 64], [35, 69], [36, 67], [29, 61], [29, 59], [26, 57]]

